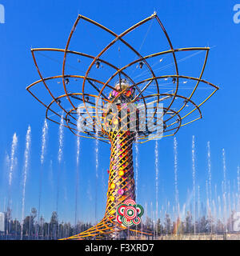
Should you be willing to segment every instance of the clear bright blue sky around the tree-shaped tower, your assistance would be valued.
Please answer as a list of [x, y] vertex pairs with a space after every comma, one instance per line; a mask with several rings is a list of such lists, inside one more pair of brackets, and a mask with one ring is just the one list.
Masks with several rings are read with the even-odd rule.
[[[227, 180], [234, 190], [239, 164], [239, 58], [240, 24], [233, 21], [236, 1], [77, 1], [0, 0], [5, 6], [6, 23], [0, 24], [1, 110], [0, 126], [0, 211], [7, 198], [6, 154], [14, 132], [18, 135], [12, 198], [14, 215], [20, 216], [22, 198], [22, 165], [27, 127], [32, 128], [30, 168], [26, 182], [26, 213], [31, 206], [38, 207], [38, 178], [40, 172], [41, 133], [45, 110], [27, 93], [26, 86], [38, 80], [38, 73], [30, 54], [31, 47], [64, 48], [66, 39], [78, 14], [94, 19], [121, 33], [134, 23], [157, 11], [175, 48], [185, 46], [214, 46], [203, 78], [220, 86], [202, 106], [203, 119], [185, 126], [178, 132], [178, 190], [181, 204], [192, 190], [191, 139], [196, 138], [197, 183], [202, 201], [206, 196], [207, 178], [206, 142], [210, 141], [212, 155], [212, 184], [221, 194], [222, 148], [226, 150]], [[139, 42], [142, 38], [138, 35]], [[82, 38], [84, 40], [84, 38]], [[146, 44], [146, 47], [148, 45]], [[123, 57], [122, 57], [123, 58]], [[189, 62], [189, 68], [191, 64]], [[50, 69], [50, 67], [48, 67]], [[49, 73], [51, 70], [47, 70]], [[139, 203], [155, 203], [154, 143], [139, 146]], [[80, 219], [94, 220], [95, 207], [95, 142], [82, 139], [80, 155], [80, 182], [78, 215]], [[99, 179], [107, 184], [110, 146], [100, 143]], [[42, 214], [46, 218], [56, 209], [57, 175], [60, 170], [59, 216], [74, 221], [76, 139], [64, 130], [62, 165], [58, 165], [58, 126], [49, 123], [47, 156], [44, 163]], [[52, 161], [52, 169], [50, 168]], [[159, 141], [159, 204], [174, 202], [173, 138]], [[98, 181], [98, 219], [106, 202], [106, 186]]]

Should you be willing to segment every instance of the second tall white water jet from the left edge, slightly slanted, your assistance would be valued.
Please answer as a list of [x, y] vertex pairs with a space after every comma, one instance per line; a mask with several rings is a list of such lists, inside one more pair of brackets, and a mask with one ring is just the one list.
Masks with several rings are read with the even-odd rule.
[[24, 151], [24, 166], [23, 166], [21, 240], [22, 240], [22, 234], [23, 234], [23, 220], [24, 220], [24, 210], [25, 210], [26, 178], [27, 178], [27, 170], [29, 168], [29, 158], [30, 158], [30, 142], [31, 142], [31, 128], [30, 126], [28, 126], [28, 129], [26, 132], [26, 147]]

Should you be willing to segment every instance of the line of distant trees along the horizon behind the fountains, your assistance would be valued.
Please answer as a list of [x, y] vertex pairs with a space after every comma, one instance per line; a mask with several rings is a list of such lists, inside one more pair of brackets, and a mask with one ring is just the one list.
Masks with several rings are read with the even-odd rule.
[[[145, 222], [136, 228], [154, 233], [156, 236], [199, 233], [222, 234], [233, 231], [233, 214], [226, 220], [225, 225], [222, 220], [214, 220], [212, 216], [205, 215], [194, 222], [193, 215], [189, 211], [185, 218], [178, 218], [177, 220], [172, 220], [170, 214], [166, 213], [164, 219], [158, 218], [158, 221], [146, 216]], [[51, 214], [50, 222], [46, 222], [42, 216], [37, 219], [37, 210], [32, 208], [30, 215], [26, 216], [22, 223], [16, 218], [11, 218], [11, 211], [8, 209], [5, 213], [4, 226], [5, 230], [0, 232], [0, 239], [55, 240], [81, 233], [93, 224], [78, 222], [76, 225], [72, 225], [70, 222], [59, 222], [58, 214], [55, 211]]]

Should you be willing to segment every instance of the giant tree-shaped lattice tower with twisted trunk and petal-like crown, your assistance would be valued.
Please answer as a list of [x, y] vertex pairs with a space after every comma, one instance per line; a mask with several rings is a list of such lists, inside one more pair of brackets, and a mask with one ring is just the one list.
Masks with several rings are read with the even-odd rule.
[[[124, 37], [153, 19], [156, 20], [158, 25], [162, 28], [170, 46], [170, 50], [142, 56], [133, 46], [124, 40]], [[114, 40], [112, 40], [96, 56], [69, 49], [71, 38], [81, 20], [90, 22], [94, 26], [98, 26], [98, 28], [114, 37]], [[137, 56], [133, 62], [130, 62], [121, 68], [107, 62], [102, 57], [102, 55], [114, 46], [116, 42], [121, 42]], [[194, 50], [206, 53], [199, 77], [194, 78], [179, 74], [176, 54]], [[178, 132], [180, 127], [186, 126], [187, 124], [202, 118], [200, 106], [202, 106], [202, 104], [218, 90], [218, 86], [214, 86], [214, 84], [202, 79], [209, 50], [209, 47], [174, 49], [170, 38], [156, 13], [141, 22], [138, 22], [134, 26], [131, 26], [119, 35], [107, 29], [105, 26], [90, 20], [90, 18], [78, 15], [70, 32], [65, 49], [38, 48], [31, 50], [40, 80], [28, 86], [26, 90], [28, 90], [38, 102], [46, 107], [46, 118], [52, 122], [66, 126], [77, 136], [98, 139], [102, 142], [110, 143], [111, 145], [109, 185], [104, 218], [102, 218], [102, 221], [99, 222], [98, 225], [81, 234], [76, 234], [73, 237], [70, 237], [70, 239], [109, 238], [109, 235], [110, 238], [115, 238], [119, 231], [127, 230], [126, 227], [121, 226], [116, 222], [116, 209], [127, 198], [135, 199], [132, 145], [134, 142], [144, 143], [153, 139], [172, 136]], [[38, 67], [35, 54], [44, 51], [63, 54], [62, 74], [47, 78], [43, 77], [42, 72]], [[174, 59], [174, 74], [157, 76], [149, 63], [150, 59], [169, 54], [171, 54]], [[85, 74], [78, 75], [66, 73], [67, 58], [72, 55], [90, 60], [90, 65], [87, 67]], [[149, 74], [148, 78], [135, 82], [134, 78], [130, 77], [127, 68], [136, 64], [138, 64], [140, 68], [142, 68], [142, 66], [146, 67]], [[92, 70], [94, 66], [97, 66], [98, 68], [101, 65], [108, 66], [110, 69], [114, 70], [114, 73], [106, 81], [90, 77], [90, 70]], [[118, 78], [118, 83], [115, 86], [113, 85], [114, 78]], [[160, 86], [161, 82], [166, 81], [167, 79], [172, 79], [171, 84], [174, 85], [174, 90], [162, 92]], [[193, 90], [188, 96], [179, 93], [179, 85], [182, 79], [195, 83]], [[55, 95], [48, 85], [50, 81], [61, 81], [64, 94]], [[78, 90], [74, 93], [70, 92], [68, 86], [72, 81], [78, 81]], [[209, 86], [213, 91], [208, 94], [202, 102], [195, 103], [193, 101], [193, 96], [198, 90], [200, 83]], [[40, 85], [43, 85], [48, 94], [50, 94], [52, 98], [51, 102], [44, 102], [38, 97], [38, 93], [33, 92], [33, 89], [35, 87], [38, 88]], [[154, 86], [154, 92], [149, 91], [150, 86]], [[177, 102], [177, 99], [178, 102], [181, 100], [182, 106], [180, 103], [177, 104], [178, 107], [174, 106], [174, 102]], [[82, 104], [79, 105], [79, 102]], [[161, 105], [162, 102], [165, 106]], [[112, 113], [111, 104], [115, 104], [118, 108], [114, 114]], [[136, 107], [129, 110], [130, 104], [135, 104]], [[186, 111], [186, 107], [189, 106], [190, 110]], [[124, 109], [125, 114], [119, 114]], [[142, 109], [144, 113], [146, 113], [147, 110], [150, 110], [150, 112], [142, 117], [139, 115], [139, 109]], [[160, 116], [158, 115], [158, 109], [162, 110]], [[198, 113], [198, 116], [190, 118], [194, 113]], [[132, 120], [130, 120], [130, 114], [134, 114]], [[125, 125], [121, 126], [121, 122]], [[134, 129], [131, 130], [130, 123], [132, 122], [134, 122], [134, 127], [132, 126], [131, 128]], [[84, 129], [82, 129], [82, 127], [84, 127]], [[144, 130], [142, 130], [143, 127], [145, 128]], [[157, 132], [159, 127], [162, 131], [160, 134]], [[119, 191], [121, 191], [121, 193], [119, 193]], [[144, 232], [137, 229], [128, 230], [134, 233], [151, 235], [147, 231]]]

